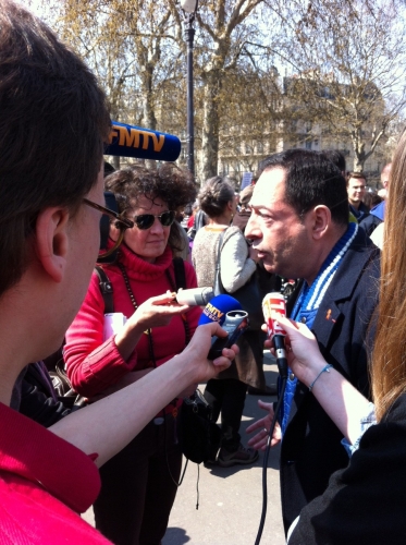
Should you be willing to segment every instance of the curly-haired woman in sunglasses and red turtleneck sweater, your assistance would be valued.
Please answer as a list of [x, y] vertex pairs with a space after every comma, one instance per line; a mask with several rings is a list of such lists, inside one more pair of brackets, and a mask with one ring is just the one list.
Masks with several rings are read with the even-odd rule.
[[[121, 216], [134, 222], [114, 263], [103, 266], [114, 313], [122, 313], [126, 323], [112, 335], [103, 332], [104, 303], [94, 274], [64, 352], [73, 387], [88, 398], [126, 386], [182, 352], [201, 313], [200, 307], [173, 303], [168, 294], [176, 290], [172, 258], [183, 243], [175, 214], [196, 196], [189, 174], [170, 164], [159, 169], [135, 165], [110, 174], [106, 189], [115, 194]], [[120, 237], [120, 223], [112, 220], [111, 247]], [[196, 288], [193, 267], [181, 264], [186, 288]], [[174, 399], [100, 470], [96, 528], [115, 544], [161, 543], [182, 465], [176, 432], [181, 404], [182, 399]]]

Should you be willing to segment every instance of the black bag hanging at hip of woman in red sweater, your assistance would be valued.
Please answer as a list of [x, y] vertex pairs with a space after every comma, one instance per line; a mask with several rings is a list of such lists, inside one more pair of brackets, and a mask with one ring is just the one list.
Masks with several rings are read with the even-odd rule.
[[192, 462], [216, 460], [221, 431], [212, 422], [211, 408], [199, 389], [183, 400], [179, 436], [182, 452]]

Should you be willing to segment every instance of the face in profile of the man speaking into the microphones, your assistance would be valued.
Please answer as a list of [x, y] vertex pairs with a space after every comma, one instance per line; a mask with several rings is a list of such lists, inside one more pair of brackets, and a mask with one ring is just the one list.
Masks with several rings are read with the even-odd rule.
[[264, 268], [284, 278], [310, 279], [315, 265], [311, 227], [284, 202], [286, 173], [282, 168], [266, 170], [250, 201], [251, 216], [245, 235], [253, 240]]

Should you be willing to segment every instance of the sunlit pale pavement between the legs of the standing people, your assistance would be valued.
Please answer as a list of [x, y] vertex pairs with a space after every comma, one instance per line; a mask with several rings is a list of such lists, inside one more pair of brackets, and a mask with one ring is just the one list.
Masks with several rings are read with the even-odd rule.
[[[267, 383], [276, 377], [276, 366], [270, 364], [266, 353]], [[262, 398], [271, 401], [275, 398]], [[259, 417], [258, 397], [247, 396], [242, 424], [243, 443], [245, 428]], [[199, 509], [196, 510], [196, 483], [198, 467], [189, 463], [171, 512], [169, 526], [162, 545], [254, 545], [262, 510], [262, 455], [251, 467], [200, 469]], [[281, 521], [279, 488], [279, 449], [270, 453], [268, 483], [268, 513], [262, 534], [262, 544], [285, 543]], [[93, 523], [93, 512], [85, 514]]]

